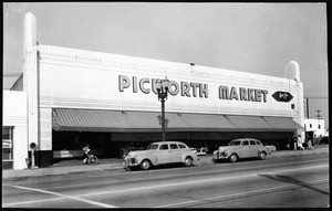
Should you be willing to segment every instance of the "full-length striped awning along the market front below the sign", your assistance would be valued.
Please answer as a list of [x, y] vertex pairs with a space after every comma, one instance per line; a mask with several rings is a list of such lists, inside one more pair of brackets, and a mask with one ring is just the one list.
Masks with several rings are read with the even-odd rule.
[[[155, 112], [53, 108], [52, 124], [54, 130], [68, 131], [160, 131], [162, 115]], [[184, 113], [166, 113], [165, 124], [167, 131], [294, 130], [301, 127], [284, 117]]]

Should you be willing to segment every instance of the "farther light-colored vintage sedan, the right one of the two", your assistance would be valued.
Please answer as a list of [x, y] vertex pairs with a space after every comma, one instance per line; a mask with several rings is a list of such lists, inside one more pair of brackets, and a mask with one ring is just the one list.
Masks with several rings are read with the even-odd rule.
[[260, 158], [266, 159], [267, 155], [271, 155], [271, 150], [264, 147], [259, 140], [255, 138], [235, 139], [228, 146], [221, 146], [214, 151], [212, 161], [228, 159], [236, 162], [241, 158]]

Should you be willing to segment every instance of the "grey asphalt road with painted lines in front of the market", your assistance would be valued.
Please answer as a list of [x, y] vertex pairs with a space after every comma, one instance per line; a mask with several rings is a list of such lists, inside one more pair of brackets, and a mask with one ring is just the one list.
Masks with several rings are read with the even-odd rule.
[[328, 208], [329, 155], [2, 183], [3, 208]]

